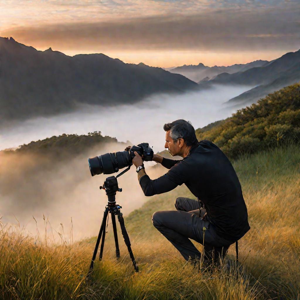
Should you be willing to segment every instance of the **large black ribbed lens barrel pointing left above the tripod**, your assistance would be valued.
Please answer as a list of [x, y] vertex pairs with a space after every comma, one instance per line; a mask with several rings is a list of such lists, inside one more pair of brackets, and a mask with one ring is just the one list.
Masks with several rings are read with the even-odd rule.
[[129, 164], [131, 164], [131, 157], [128, 151], [106, 153], [88, 158], [91, 176], [100, 175], [102, 173], [112, 174], [118, 172], [119, 169], [128, 167]]

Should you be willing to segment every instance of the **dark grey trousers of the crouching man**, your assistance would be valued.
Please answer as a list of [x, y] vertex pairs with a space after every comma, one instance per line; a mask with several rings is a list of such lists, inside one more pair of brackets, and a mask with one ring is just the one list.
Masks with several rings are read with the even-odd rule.
[[[230, 244], [235, 241], [217, 235], [214, 226], [199, 217], [197, 200], [179, 197], [175, 201], [175, 207], [177, 211], [156, 211], [152, 216], [152, 222], [185, 260], [197, 261], [204, 254], [204, 259], [218, 262], [220, 257], [226, 255]], [[208, 229], [203, 230], [203, 227]], [[204, 253], [200, 253], [189, 238], [204, 245]]]

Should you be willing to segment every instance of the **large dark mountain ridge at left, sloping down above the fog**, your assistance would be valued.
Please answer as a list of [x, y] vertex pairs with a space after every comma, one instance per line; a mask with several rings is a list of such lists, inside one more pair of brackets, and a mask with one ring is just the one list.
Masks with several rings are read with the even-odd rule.
[[82, 104], [134, 103], [154, 93], [178, 93], [198, 85], [145, 64], [125, 64], [104, 54], [73, 57], [38, 51], [0, 38], [1, 119], [61, 113]]

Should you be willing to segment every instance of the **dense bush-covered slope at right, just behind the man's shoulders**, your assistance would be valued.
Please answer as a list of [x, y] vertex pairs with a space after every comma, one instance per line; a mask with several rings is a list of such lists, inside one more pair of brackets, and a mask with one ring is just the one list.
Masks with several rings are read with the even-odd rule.
[[300, 141], [300, 83], [290, 85], [238, 110], [210, 130], [196, 130], [198, 140], [211, 140], [229, 158]]

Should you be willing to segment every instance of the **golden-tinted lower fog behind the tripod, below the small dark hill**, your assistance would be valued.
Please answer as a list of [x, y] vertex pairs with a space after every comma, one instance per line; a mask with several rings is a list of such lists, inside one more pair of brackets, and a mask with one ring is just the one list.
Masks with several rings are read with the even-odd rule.
[[[122, 150], [124, 147], [120, 144], [101, 147], [102, 153]], [[52, 237], [53, 232], [59, 238], [55, 231], [62, 232], [61, 223], [69, 236], [72, 218], [74, 240], [97, 235], [107, 204], [105, 191], [99, 186], [106, 177], [116, 174], [91, 176], [87, 158], [96, 151], [91, 149], [73, 158], [66, 157], [65, 161], [38, 154], [4, 155], [0, 152], [1, 222], [19, 222], [20, 227], [25, 228], [25, 234], [35, 236], [38, 229], [42, 236], [45, 233], [44, 215], [50, 223], [47, 234]], [[153, 179], [165, 171], [164, 168], [147, 168]], [[124, 215], [149, 200], [143, 194], [134, 167], [119, 177], [118, 183], [123, 190], [117, 193], [116, 201], [122, 205]]]

